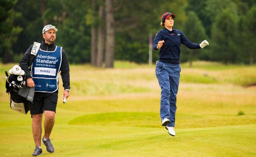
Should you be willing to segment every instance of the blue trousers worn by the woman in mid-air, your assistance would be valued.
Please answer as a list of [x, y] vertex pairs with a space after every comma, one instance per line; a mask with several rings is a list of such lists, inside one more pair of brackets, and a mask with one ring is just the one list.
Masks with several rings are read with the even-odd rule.
[[157, 62], [155, 75], [161, 87], [160, 117], [168, 118], [170, 124], [175, 125], [176, 95], [180, 80], [181, 66], [179, 64], [169, 64]]

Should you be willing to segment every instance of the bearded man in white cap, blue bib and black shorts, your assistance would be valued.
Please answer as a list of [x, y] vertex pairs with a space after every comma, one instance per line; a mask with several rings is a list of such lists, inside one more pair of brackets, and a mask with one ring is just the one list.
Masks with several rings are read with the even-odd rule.
[[35, 89], [34, 101], [30, 105], [32, 133], [36, 146], [32, 156], [42, 154], [43, 113], [45, 120], [42, 142], [49, 153], [54, 152], [53, 144], [50, 141], [50, 133], [55, 122], [59, 84], [57, 75], [59, 71], [64, 87], [63, 99], [66, 100], [69, 97], [69, 62], [64, 49], [54, 43], [57, 31], [58, 29], [51, 24], [43, 27], [43, 42], [41, 44], [34, 42], [24, 53], [20, 62], [20, 67], [26, 74], [27, 86], [34, 86]]

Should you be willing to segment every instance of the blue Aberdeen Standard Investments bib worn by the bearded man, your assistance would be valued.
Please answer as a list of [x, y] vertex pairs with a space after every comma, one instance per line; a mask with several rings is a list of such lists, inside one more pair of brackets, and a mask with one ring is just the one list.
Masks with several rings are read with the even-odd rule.
[[39, 49], [32, 65], [31, 76], [35, 92], [55, 92], [58, 89], [58, 73], [62, 62], [62, 47], [55, 51]]

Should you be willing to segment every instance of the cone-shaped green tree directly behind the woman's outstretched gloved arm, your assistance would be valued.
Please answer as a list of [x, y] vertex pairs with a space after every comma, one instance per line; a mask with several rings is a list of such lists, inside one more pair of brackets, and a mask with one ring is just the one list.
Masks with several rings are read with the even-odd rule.
[[[205, 39], [208, 40], [202, 22], [199, 20], [197, 14], [194, 11], [189, 11], [187, 13], [187, 19], [184, 22], [183, 33], [191, 42], [200, 43]], [[199, 58], [200, 52], [202, 52], [201, 49], [188, 49], [186, 46], [182, 46], [182, 60], [189, 60], [190, 67], [192, 67], [192, 61]]]

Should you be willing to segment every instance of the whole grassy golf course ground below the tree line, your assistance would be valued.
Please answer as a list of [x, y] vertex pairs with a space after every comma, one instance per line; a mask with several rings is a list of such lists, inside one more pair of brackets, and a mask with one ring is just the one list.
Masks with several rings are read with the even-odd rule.
[[[12, 111], [1, 64], [0, 157], [34, 150], [30, 115]], [[256, 66], [182, 64], [176, 136], [161, 126], [154, 66], [116, 62], [115, 69], [71, 65], [71, 97], [62, 103], [49, 157], [256, 157]]]

